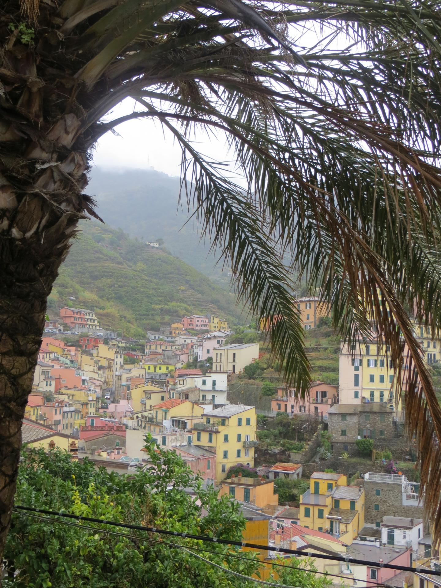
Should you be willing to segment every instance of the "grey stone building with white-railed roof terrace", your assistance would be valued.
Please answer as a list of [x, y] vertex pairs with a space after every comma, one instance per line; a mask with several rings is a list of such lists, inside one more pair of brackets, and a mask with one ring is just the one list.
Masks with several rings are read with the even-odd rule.
[[419, 484], [406, 476], [368, 472], [365, 474], [365, 523], [380, 529], [384, 516], [423, 518]]

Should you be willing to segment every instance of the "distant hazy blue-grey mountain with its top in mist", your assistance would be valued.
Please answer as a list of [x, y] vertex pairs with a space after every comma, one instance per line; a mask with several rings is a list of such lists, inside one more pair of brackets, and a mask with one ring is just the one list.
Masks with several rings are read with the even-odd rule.
[[149, 169], [112, 172], [95, 167], [87, 191], [108, 225], [131, 238], [163, 239], [172, 255], [228, 289], [228, 270], [222, 271], [221, 264], [215, 267], [217, 258], [209, 253], [209, 243], [201, 243], [193, 222], [185, 224], [188, 214], [185, 206], [178, 207], [179, 186], [179, 178]]

